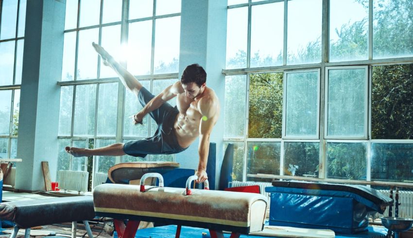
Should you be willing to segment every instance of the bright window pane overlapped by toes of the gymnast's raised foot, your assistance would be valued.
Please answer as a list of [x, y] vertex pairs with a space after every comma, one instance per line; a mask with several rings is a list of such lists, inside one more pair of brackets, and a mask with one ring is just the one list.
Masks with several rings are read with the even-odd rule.
[[98, 72], [98, 54], [92, 42], [98, 42], [99, 29], [79, 32], [79, 49], [77, 56], [77, 79], [96, 79]]

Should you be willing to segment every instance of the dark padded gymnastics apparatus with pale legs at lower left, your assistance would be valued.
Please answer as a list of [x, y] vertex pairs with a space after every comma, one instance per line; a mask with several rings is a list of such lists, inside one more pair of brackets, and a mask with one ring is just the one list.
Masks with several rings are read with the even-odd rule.
[[93, 238], [87, 220], [94, 217], [91, 196], [53, 197], [0, 203], [0, 220], [16, 224], [10, 238], [16, 238], [20, 228], [25, 229], [24, 237], [29, 238], [31, 227], [62, 222], [72, 222], [72, 238], [76, 238], [77, 221], [83, 221], [87, 236]]

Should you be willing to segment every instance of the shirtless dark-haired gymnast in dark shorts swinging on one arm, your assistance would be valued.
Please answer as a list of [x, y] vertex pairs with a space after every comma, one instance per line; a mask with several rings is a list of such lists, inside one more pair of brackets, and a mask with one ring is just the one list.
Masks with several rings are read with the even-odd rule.
[[[206, 87], [206, 72], [198, 64], [191, 64], [180, 81], [152, 95], [131, 73], [116, 62], [106, 50], [92, 43], [103, 64], [118, 74], [122, 84], [138, 96], [143, 109], [133, 115], [133, 124], [141, 124], [150, 114], [158, 128], [155, 135], [143, 140], [115, 143], [102, 148], [86, 149], [67, 146], [66, 152], [75, 157], [122, 156], [145, 157], [148, 154], [176, 154], [184, 151], [199, 136], [199, 164], [197, 182], [207, 179], [206, 163], [209, 136], [220, 114], [220, 103], [214, 91]], [[176, 108], [168, 100], [176, 96]]]

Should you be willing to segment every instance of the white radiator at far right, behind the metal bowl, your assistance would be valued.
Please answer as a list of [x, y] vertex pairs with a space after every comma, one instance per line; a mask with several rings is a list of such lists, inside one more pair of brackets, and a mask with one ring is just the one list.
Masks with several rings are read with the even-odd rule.
[[[390, 197], [390, 190], [379, 190], [385, 196]], [[396, 202], [396, 191], [393, 191], [393, 200]], [[399, 191], [400, 203], [398, 207], [398, 216], [404, 218], [413, 218], [413, 191]], [[389, 207], [386, 208], [384, 216], [389, 215]], [[395, 206], [392, 207], [392, 216], [395, 216]]]

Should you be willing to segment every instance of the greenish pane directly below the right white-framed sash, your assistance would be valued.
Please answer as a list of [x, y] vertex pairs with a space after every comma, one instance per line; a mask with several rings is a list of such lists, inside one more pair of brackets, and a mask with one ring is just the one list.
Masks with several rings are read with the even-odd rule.
[[327, 143], [327, 178], [366, 180], [367, 143]]

